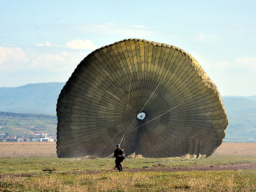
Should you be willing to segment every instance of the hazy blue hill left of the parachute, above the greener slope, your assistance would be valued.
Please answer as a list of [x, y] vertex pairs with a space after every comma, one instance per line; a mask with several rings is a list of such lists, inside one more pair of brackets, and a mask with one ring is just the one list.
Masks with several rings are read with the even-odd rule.
[[65, 83], [35, 83], [0, 87], [0, 111], [56, 114], [56, 104]]

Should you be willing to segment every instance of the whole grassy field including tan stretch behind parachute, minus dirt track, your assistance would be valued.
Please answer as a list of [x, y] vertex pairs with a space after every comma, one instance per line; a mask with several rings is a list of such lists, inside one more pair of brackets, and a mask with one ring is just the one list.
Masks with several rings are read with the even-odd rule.
[[203, 159], [125, 159], [120, 173], [114, 159], [59, 159], [53, 142], [0, 144], [0, 191], [256, 191], [256, 170], [163, 169], [256, 163], [255, 143], [223, 143]]

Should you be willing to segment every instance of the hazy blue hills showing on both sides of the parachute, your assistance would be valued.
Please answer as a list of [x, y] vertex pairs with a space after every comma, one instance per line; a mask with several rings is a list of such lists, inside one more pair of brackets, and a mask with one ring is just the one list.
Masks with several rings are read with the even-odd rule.
[[[0, 111], [53, 114], [65, 83], [36, 83], [20, 87], [0, 87]], [[229, 125], [226, 142], [256, 142], [256, 95], [223, 96]]]

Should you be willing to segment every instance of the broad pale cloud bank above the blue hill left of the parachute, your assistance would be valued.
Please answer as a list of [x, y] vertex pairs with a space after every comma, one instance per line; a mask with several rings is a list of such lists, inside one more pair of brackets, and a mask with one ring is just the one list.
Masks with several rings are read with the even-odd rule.
[[91, 52], [90, 50], [75, 49], [69, 49], [70, 51], [67, 52], [60, 48], [48, 53], [47, 51], [42, 52], [40, 49], [37, 52], [37, 48], [33, 50], [19, 48], [18, 50], [22, 54], [18, 54], [18, 57], [18, 52], [13, 50], [11, 52], [9, 49], [0, 47], [2, 60], [0, 87], [16, 87], [39, 82], [65, 82], [80, 61]]

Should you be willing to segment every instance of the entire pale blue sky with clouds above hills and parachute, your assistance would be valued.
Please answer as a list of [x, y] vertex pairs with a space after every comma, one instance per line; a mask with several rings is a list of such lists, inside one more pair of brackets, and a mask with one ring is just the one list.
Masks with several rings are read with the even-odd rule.
[[87, 54], [127, 38], [191, 54], [222, 96], [256, 95], [253, 1], [0, 1], [0, 87], [66, 82]]

